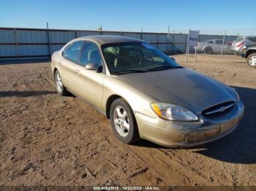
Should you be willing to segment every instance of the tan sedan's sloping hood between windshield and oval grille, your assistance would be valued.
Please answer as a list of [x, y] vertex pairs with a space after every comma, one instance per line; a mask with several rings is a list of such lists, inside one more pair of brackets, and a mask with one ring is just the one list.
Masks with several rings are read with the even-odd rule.
[[197, 114], [216, 104], [236, 100], [227, 85], [186, 68], [123, 74], [118, 79], [158, 101], [184, 106]]

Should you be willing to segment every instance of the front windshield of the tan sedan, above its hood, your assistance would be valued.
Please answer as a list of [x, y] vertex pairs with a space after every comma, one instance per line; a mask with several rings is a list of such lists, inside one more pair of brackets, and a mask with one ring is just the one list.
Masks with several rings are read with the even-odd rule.
[[104, 44], [102, 52], [111, 74], [181, 68], [176, 61], [148, 43]]

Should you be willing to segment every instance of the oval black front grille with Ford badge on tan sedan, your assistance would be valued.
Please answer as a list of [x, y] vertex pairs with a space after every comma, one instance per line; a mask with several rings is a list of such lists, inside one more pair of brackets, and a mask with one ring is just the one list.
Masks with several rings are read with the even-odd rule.
[[212, 106], [203, 111], [203, 116], [205, 117], [217, 117], [219, 115], [225, 114], [233, 109], [234, 101], [228, 101], [216, 106]]

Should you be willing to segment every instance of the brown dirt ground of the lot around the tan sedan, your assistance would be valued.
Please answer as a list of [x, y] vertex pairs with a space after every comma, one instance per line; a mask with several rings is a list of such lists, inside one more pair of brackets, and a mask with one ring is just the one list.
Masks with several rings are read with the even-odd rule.
[[174, 58], [236, 88], [233, 133], [192, 149], [125, 145], [102, 114], [56, 93], [50, 63], [1, 64], [0, 185], [256, 185], [256, 69], [234, 55]]

